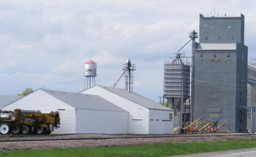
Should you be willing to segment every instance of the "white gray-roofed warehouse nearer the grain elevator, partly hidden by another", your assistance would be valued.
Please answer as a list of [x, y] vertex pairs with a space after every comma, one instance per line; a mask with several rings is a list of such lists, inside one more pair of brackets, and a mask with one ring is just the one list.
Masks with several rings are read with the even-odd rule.
[[173, 110], [125, 89], [94, 86], [84, 94], [101, 96], [129, 112], [129, 134], [172, 134]]

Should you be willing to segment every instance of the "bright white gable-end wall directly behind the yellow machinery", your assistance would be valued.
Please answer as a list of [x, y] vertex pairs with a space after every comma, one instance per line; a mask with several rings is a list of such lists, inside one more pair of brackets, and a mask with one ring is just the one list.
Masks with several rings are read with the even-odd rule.
[[22, 110], [40, 110], [42, 113], [60, 110], [61, 125], [52, 134], [74, 134], [75, 133], [75, 108], [67, 105], [65, 102], [56, 99], [43, 90], [37, 90], [24, 98], [5, 106], [3, 110], [14, 110], [20, 108]]

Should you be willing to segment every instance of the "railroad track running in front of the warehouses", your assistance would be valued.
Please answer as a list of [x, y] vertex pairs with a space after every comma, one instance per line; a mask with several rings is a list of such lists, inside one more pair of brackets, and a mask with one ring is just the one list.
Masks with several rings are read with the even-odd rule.
[[[0, 143], [1, 142], [27, 142], [27, 141], [70, 141], [70, 140], [113, 140], [113, 139], [134, 139], [134, 138], [197, 138], [197, 137], [229, 137], [230, 139], [233, 137], [256, 137], [256, 135], [250, 134], [233, 134], [233, 133], [225, 133], [225, 134], [170, 134], [170, 135], [109, 135], [110, 137], [63, 137], [63, 136], [79, 136], [85, 134], [53, 134], [53, 135], [0, 135]], [[95, 134], [92, 134], [95, 135]], [[104, 135], [104, 134], [100, 134]], [[106, 135], [106, 134], [105, 134]], [[106, 135], [107, 136], [107, 135]], [[4, 138], [9, 138], [9, 140], [4, 140]], [[27, 139], [26, 139], [27, 138]], [[1, 140], [3, 139], [3, 140]], [[229, 140], [229, 138], [227, 138]]]

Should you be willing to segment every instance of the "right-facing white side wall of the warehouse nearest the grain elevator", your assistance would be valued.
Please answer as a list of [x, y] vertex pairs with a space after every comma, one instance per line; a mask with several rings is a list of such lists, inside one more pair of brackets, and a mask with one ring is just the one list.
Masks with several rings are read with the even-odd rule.
[[149, 110], [149, 134], [173, 134], [173, 116], [173, 111]]

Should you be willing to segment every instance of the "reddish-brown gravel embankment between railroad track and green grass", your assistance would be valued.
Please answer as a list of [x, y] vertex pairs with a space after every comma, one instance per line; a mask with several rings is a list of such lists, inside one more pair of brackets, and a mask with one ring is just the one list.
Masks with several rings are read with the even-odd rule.
[[[113, 136], [113, 135], [112, 135]], [[256, 137], [256, 136], [255, 136]], [[255, 138], [251, 136], [251, 138]], [[94, 147], [115, 147], [143, 145], [153, 143], [183, 143], [200, 141], [225, 141], [238, 138], [250, 138], [250, 136], [226, 135], [226, 136], [187, 136], [184, 137], [155, 137], [155, 138], [115, 138], [105, 140], [57, 140], [57, 141], [18, 141], [18, 142], [0, 142], [0, 149], [18, 150], [18, 149], [53, 149], [53, 148], [94, 148]]]

